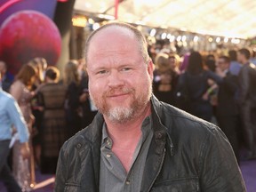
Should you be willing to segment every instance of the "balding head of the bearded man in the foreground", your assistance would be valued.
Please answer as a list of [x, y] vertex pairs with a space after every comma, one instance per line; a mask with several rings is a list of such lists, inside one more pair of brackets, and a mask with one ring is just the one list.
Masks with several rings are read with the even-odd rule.
[[110, 23], [85, 44], [89, 91], [100, 112], [114, 123], [132, 120], [148, 105], [153, 63], [137, 28]]

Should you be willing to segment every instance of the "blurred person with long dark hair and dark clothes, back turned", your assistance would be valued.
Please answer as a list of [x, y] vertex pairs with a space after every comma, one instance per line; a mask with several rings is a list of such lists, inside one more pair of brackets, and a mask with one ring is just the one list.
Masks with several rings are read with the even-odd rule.
[[188, 68], [179, 78], [177, 85], [178, 100], [181, 90], [188, 94], [186, 103], [179, 101], [178, 107], [186, 109], [194, 116], [210, 122], [212, 119], [212, 105], [210, 100], [204, 99], [204, 93], [209, 88], [208, 79], [220, 83], [221, 77], [210, 70], [204, 70], [203, 59], [199, 52], [191, 52], [188, 58]]

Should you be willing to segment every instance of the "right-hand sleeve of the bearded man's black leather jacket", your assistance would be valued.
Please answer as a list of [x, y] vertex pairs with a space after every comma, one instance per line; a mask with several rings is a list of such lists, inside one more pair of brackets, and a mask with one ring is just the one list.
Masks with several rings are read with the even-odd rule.
[[219, 128], [205, 138], [200, 162], [200, 187], [204, 192], [245, 192], [244, 180], [228, 139]]

